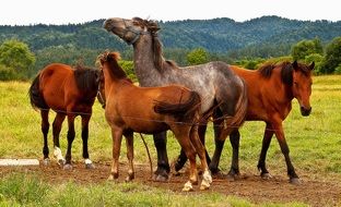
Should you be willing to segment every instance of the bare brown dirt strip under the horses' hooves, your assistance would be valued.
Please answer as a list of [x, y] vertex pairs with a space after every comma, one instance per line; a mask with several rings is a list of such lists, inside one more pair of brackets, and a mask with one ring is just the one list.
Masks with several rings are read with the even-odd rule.
[[[57, 163], [48, 167], [43, 165], [37, 167], [0, 167], [0, 176], [12, 172], [27, 172], [38, 174], [42, 179], [50, 183], [62, 183], [67, 181], [79, 184], [102, 183], [108, 178], [110, 163], [95, 163], [96, 168], [86, 170], [83, 163], [74, 163], [73, 170], [64, 171]], [[127, 175], [126, 166], [120, 166], [119, 181], [124, 182]], [[151, 180], [150, 167], [148, 165], [136, 165], [136, 181], [145, 185], [166, 188], [181, 193], [184, 183], [188, 175], [184, 172], [180, 175], [172, 176], [168, 182], [153, 182]], [[341, 200], [340, 183], [322, 182], [316, 180], [302, 179], [299, 185], [287, 182], [286, 176], [274, 176], [270, 180], [262, 180], [256, 174], [243, 174], [236, 181], [228, 181], [225, 176], [214, 176], [209, 191], [200, 192], [199, 186], [195, 186], [195, 193], [215, 192], [224, 195], [234, 195], [248, 199], [252, 203], [289, 203], [302, 202], [311, 206], [338, 206]]]

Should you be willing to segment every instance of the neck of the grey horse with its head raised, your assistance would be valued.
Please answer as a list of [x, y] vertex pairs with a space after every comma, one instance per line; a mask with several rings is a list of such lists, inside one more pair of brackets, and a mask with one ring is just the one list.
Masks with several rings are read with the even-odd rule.
[[141, 86], [164, 85], [163, 71], [154, 64], [153, 46], [151, 35], [143, 35], [133, 46], [133, 63], [137, 77]]

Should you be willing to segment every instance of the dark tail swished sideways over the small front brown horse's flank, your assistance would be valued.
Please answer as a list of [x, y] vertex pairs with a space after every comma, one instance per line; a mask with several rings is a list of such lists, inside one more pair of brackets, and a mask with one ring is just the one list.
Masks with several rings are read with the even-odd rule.
[[184, 117], [189, 111], [196, 110], [200, 108], [200, 96], [196, 92], [190, 92], [189, 98], [186, 102], [183, 104], [169, 104], [157, 101], [154, 106], [154, 111], [156, 113], [163, 114], [174, 114], [177, 117]]

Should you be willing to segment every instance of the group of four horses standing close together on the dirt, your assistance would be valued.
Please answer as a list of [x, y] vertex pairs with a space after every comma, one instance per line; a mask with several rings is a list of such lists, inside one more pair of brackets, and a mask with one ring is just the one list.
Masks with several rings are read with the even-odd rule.
[[[172, 130], [181, 151], [175, 162], [179, 171], [189, 159], [189, 180], [183, 191], [192, 191], [198, 183], [196, 156], [201, 161], [200, 190], [207, 190], [212, 173], [219, 172], [224, 142], [230, 135], [233, 148], [228, 175], [239, 175], [238, 129], [245, 121], [264, 121], [266, 129], [258, 161], [261, 176], [270, 176], [266, 167], [267, 151], [275, 137], [284, 155], [290, 182], [299, 182], [290, 159], [282, 122], [296, 98], [302, 115], [309, 115], [311, 107], [310, 65], [294, 62], [264, 64], [250, 71], [221, 61], [179, 68], [165, 60], [154, 21], [134, 17], [108, 19], [104, 27], [133, 47], [133, 63], [140, 86], [136, 86], [119, 66], [119, 53], [99, 54], [99, 69], [71, 68], [51, 63], [43, 69], [30, 87], [31, 104], [40, 111], [44, 137], [44, 163], [49, 162], [47, 134], [48, 113], [57, 114], [52, 123], [54, 155], [63, 169], [72, 169], [71, 146], [74, 139], [74, 119], [82, 118], [83, 158], [86, 168], [94, 168], [87, 151], [89, 121], [97, 97], [105, 108], [105, 118], [111, 129], [113, 163], [109, 180], [119, 175], [118, 158], [122, 135], [127, 143], [129, 161], [127, 181], [134, 179], [133, 132], [153, 134], [157, 151], [154, 180], [166, 181], [170, 167], [166, 150], [166, 131]], [[68, 149], [66, 159], [59, 146], [63, 120], [68, 118]], [[204, 148], [209, 120], [213, 120], [215, 149], [212, 159]]]

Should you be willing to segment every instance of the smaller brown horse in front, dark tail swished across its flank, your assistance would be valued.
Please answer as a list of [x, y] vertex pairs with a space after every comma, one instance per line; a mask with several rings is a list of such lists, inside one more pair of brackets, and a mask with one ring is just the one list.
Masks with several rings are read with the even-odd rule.
[[117, 179], [119, 174], [118, 158], [122, 135], [127, 141], [129, 160], [126, 180], [130, 181], [134, 178], [133, 132], [152, 134], [172, 130], [190, 161], [189, 181], [183, 191], [191, 191], [192, 184], [198, 182], [196, 154], [199, 155], [203, 170], [200, 188], [208, 188], [212, 178], [196, 124], [200, 118], [200, 96], [177, 85], [138, 87], [127, 78], [126, 73], [118, 65], [117, 52], [106, 52], [98, 59], [104, 74], [105, 117], [111, 127], [113, 136], [113, 165], [109, 180]]

